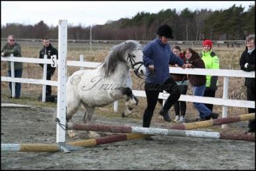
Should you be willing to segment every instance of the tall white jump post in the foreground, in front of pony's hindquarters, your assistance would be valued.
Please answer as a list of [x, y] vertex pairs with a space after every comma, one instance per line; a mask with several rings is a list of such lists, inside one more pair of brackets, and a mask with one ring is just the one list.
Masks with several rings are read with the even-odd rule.
[[67, 80], [67, 20], [59, 20], [58, 41], [58, 93], [57, 93], [57, 133], [56, 141], [65, 143], [66, 125], [66, 80]]

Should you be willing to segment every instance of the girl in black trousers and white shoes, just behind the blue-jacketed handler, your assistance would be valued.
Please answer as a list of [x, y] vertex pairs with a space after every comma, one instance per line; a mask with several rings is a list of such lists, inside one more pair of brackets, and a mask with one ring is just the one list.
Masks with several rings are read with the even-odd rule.
[[[174, 48], [172, 49], [172, 52], [177, 57], [180, 57], [184, 63], [186, 63], [186, 59], [183, 53], [181, 52], [181, 48], [179, 46], [174, 46]], [[173, 66], [177, 67], [177, 64], [174, 64]], [[185, 85], [184, 88], [181, 89], [181, 94], [185, 95], [187, 93], [187, 85], [189, 84], [189, 82], [187, 81], [187, 74], [170, 74], [170, 75], [172, 76], [172, 78], [174, 78], [174, 81], [176, 81], [177, 85]], [[176, 103], [174, 103], [174, 110], [176, 114], [176, 118], [174, 119], [174, 122], [176, 123], [185, 122], [186, 109], [187, 109], [187, 105], [185, 101], [176, 101]], [[180, 114], [179, 114], [179, 111], [180, 111]]]

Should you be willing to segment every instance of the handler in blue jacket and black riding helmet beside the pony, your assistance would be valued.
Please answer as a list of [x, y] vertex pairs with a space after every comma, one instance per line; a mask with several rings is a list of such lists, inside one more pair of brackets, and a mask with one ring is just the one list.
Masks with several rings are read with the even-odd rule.
[[143, 48], [143, 63], [146, 67], [147, 76], [144, 84], [147, 107], [144, 110], [143, 127], [146, 128], [150, 127], [158, 95], [163, 90], [170, 93], [170, 96], [166, 100], [166, 103], [164, 103], [159, 114], [163, 116], [166, 122], [171, 121], [168, 110], [176, 103], [181, 93], [179, 90], [180, 87], [176, 84], [172, 76], [169, 76], [169, 63], [178, 64], [182, 68], [185, 68], [183, 60], [174, 55], [168, 44], [169, 39], [174, 38], [172, 36], [172, 28], [164, 24], [158, 28], [156, 34], [158, 37], [150, 41]]

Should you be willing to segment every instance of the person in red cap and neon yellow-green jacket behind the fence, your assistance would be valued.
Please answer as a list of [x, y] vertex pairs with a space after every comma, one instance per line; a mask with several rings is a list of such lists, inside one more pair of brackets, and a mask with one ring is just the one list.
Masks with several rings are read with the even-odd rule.
[[[220, 64], [218, 57], [214, 51], [212, 51], [212, 41], [205, 39], [203, 41], [203, 51], [201, 53], [201, 59], [205, 62], [205, 68], [207, 69], [219, 69]], [[205, 88], [204, 97], [215, 97], [215, 92], [218, 88], [218, 76], [207, 76], [207, 84]], [[205, 104], [205, 106], [212, 112], [213, 105]]]

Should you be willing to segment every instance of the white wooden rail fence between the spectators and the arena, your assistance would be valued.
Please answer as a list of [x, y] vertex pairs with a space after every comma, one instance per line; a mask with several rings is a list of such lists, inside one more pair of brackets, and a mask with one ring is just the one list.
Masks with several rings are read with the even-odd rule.
[[[80, 69], [84, 67], [96, 68], [101, 63], [100, 62], [83, 62], [83, 56], [80, 55], [80, 61], [67, 61], [67, 66], [79, 66]], [[25, 58], [25, 57], [1, 57], [1, 61], [16, 61], [16, 62], [30, 62], [30, 63], [44, 63], [52, 64], [51, 59], [35, 59], [35, 58]], [[58, 60], [57, 60], [58, 61]], [[241, 78], [255, 78], [255, 72], [244, 72], [243, 70], [224, 70], [224, 69], [200, 69], [200, 68], [176, 68], [170, 67], [170, 73], [174, 74], [195, 74], [195, 75], [211, 75], [211, 76], [223, 76], [224, 77], [224, 87], [223, 87], [223, 97], [199, 97], [194, 95], [181, 95], [179, 101], [190, 101], [190, 102], [203, 102], [210, 103], [213, 105], [222, 105], [222, 118], [227, 116], [227, 107], [245, 107], [245, 108], [255, 108], [255, 101], [244, 101], [244, 100], [235, 100], [228, 99], [228, 83], [230, 77], [241, 77]], [[46, 73], [44, 73], [46, 74]], [[46, 77], [44, 77], [46, 78]], [[30, 83], [30, 84], [42, 84], [42, 85], [53, 85], [57, 86], [57, 81], [51, 80], [37, 80], [37, 79], [28, 79], [28, 78], [13, 78], [1, 76], [1, 81], [3, 82], [21, 82], [21, 83]], [[134, 95], [138, 97], [146, 97], [144, 91], [133, 90]], [[169, 96], [168, 93], [160, 93], [159, 99], [167, 99]], [[59, 98], [58, 98], [59, 99]], [[117, 112], [117, 103], [114, 105], [114, 110]]]

